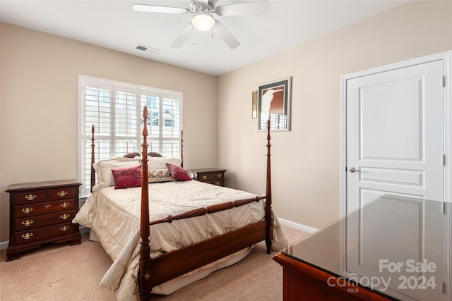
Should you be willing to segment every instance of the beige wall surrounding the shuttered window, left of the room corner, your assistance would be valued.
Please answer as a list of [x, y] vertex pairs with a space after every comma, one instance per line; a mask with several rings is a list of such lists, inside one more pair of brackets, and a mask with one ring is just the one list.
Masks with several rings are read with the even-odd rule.
[[8, 185], [78, 176], [79, 74], [183, 92], [184, 166], [217, 166], [215, 76], [0, 24], [0, 242]]

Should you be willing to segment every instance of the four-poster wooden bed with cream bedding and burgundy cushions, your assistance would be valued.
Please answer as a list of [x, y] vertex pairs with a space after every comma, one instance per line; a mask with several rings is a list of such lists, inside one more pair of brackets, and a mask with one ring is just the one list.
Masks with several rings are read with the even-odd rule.
[[[145, 107], [143, 120], [147, 119]], [[118, 300], [148, 300], [151, 293], [172, 293], [238, 262], [263, 240], [268, 254], [272, 240], [275, 250], [285, 247], [286, 240], [271, 207], [270, 130], [266, 196], [261, 197], [186, 179], [182, 160], [178, 164], [176, 158], [148, 157], [146, 123], [141, 158], [95, 163], [94, 126], [92, 132], [93, 193], [73, 223], [89, 227], [90, 238], [95, 236], [93, 239], [99, 240], [112, 257], [113, 264], [101, 285], [114, 290]], [[136, 178], [136, 168], [139, 183], [121, 186], [124, 174], [129, 177], [126, 183]], [[164, 174], [167, 180], [162, 180], [162, 173], [168, 172], [171, 176]]]

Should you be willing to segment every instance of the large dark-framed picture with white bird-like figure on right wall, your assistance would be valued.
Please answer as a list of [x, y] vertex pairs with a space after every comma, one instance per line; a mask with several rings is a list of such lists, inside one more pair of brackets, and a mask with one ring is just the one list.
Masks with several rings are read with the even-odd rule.
[[290, 94], [292, 78], [260, 85], [258, 89], [258, 130], [290, 130]]

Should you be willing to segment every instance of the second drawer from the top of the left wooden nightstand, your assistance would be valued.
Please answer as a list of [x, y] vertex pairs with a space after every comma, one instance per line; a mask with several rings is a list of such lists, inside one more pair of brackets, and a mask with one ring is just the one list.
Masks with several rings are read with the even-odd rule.
[[16, 206], [14, 207], [14, 216], [16, 217], [16, 219], [20, 219], [27, 216], [49, 214], [54, 212], [73, 210], [75, 208], [76, 202], [74, 199], [65, 199], [62, 201]]

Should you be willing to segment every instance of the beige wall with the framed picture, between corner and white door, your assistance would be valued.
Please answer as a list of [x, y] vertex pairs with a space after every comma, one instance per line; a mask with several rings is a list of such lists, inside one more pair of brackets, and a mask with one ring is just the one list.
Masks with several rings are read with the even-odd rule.
[[251, 91], [292, 76], [292, 130], [272, 134], [273, 209], [313, 228], [337, 219], [340, 76], [451, 49], [452, 2], [413, 1], [222, 75], [218, 163], [227, 184], [265, 191], [266, 133], [251, 119]]

